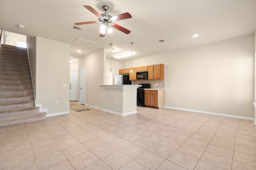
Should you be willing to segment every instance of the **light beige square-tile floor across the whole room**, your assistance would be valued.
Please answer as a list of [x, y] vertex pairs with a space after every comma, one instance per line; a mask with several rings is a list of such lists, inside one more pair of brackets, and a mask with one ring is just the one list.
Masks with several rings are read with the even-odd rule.
[[253, 121], [94, 108], [0, 128], [1, 170], [256, 170]]

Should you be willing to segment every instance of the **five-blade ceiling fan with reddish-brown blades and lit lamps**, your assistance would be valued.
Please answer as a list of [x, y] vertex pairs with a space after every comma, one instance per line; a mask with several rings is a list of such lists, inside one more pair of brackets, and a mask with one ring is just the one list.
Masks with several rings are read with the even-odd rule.
[[85, 5], [84, 8], [86, 8], [87, 10], [92, 12], [94, 15], [96, 15], [99, 18], [99, 21], [79, 22], [79, 23], [75, 23], [75, 25], [83, 25], [83, 24], [89, 24], [89, 23], [102, 23], [102, 25], [100, 26], [100, 37], [105, 37], [106, 31], [108, 31], [108, 33], [112, 32], [112, 29], [110, 27], [108, 27], [108, 25], [111, 25], [112, 27], [114, 27], [114, 28], [118, 29], [119, 31], [122, 31], [123, 33], [126, 33], [126, 34], [129, 34], [131, 32], [130, 30], [128, 30], [124, 27], [121, 27], [120, 25], [112, 23], [113, 21], [132, 18], [132, 15], [129, 14], [128, 12], [112, 17], [106, 13], [106, 11], [109, 8], [107, 5], [102, 6], [103, 10], [105, 11], [105, 14], [98, 13], [91, 6]]

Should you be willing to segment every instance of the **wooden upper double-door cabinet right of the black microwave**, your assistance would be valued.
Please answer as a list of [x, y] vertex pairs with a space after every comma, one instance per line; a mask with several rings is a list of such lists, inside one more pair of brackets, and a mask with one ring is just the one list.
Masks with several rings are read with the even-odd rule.
[[164, 64], [148, 66], [148, 80], [164, 80]]

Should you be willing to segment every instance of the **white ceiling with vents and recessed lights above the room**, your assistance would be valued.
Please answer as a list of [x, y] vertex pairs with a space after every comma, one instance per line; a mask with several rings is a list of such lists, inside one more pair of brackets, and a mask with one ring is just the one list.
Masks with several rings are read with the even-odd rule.
[[[131, 33], [112, 28], [112, 34], [99, 37], [97, 23], [80, 25], [84, 31], [71, 29], [76, 22], [98, 21], [84, 5], [100, 14], [102, 5], [108, 5], [111, 16], [129, 12], [132, 18], [114, 23]], [[110, 43], [117, 49], [114, 57], [129, 52], [133, 42], [136, 59], [255, 33], [256, 0], [0, 0], [0, 29], [69, 43], [75, 60], [102, 48], [110, 58]], [[77, 43], [77, 37], [96, 43]]]

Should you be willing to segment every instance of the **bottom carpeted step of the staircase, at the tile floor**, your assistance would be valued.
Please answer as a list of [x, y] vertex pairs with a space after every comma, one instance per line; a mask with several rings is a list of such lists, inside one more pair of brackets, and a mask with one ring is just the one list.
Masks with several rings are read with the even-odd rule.
[[30, 115], [3, 117], [3, 118], [0, 118], [0, 127], [45, 120], [46, 114], [47, 114], [46, 112], [42, 111], [39, 113], [30, 114]]

